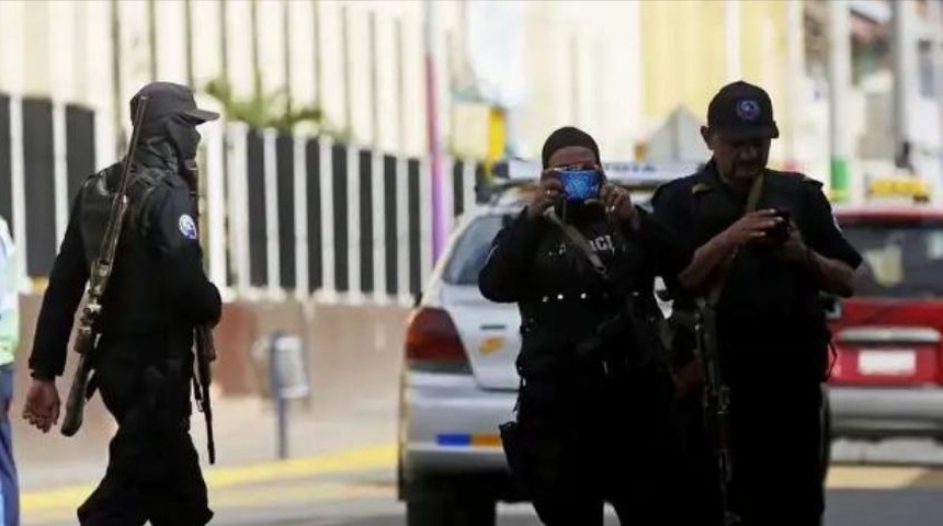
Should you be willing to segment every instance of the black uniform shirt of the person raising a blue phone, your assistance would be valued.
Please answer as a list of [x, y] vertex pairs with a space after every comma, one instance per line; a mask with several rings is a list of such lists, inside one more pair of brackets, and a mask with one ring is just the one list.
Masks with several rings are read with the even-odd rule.
[[548, 219], [522, 211], [496, 237], [479, 275], [481, 294], [516, 302], [522, 316], [522, 376], [552, 370], [573, 358], [573, 347], [636, 293], [643, 308], [659, 316], [654, 299], [657, 275], [677, 274], [690, 251], [672, 232], [638, 209], [638, 229], [587, 214], [577, 227], [609, 271], [604, 281], [586, 254]]

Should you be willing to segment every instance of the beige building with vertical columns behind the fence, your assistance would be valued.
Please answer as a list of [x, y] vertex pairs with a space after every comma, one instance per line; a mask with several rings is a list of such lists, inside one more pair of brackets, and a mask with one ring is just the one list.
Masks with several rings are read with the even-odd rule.
[[[482, 72], [491, 72], [503, 77], [499, 83], [518, 85], [512, 114], [522, 153], [534, 155], [550, 129], [575, 123], [597, 134], [610, 156], [630, 156], [641, 132], [639, 5], [534, 1], [521, 3], [515, 18], [508, 18], [512, 10], [501, 3], [431, 3], [445, 144], [471, 155], [482, 149], [487, 127], [467, 104], [450, 104], [447, 87], [475, 78], [487, 84], [493, 79], [481, 79]], [[188, 82], [192, 75], [193, 85], [203, 90], [225, 75], [237, 98], [249, 99], [258, 64], [264, 94], [287, 87], [296, 108], [319, 103], [332, 126], [349, 129], [356, 142], [422, 155], [424, 7], [405, 0], [7, 0], [0, 2], [7, 27], [0, 34], [0, 91], [94, 108], [104, 162], [114, 156], [114, 140], [106, 138], [117, 137], [115, 122], [127, 125], [126, 101], [143, 83], [151, 78]], [[505, 27], [516, 30], [491, 31], [502, 16]], [[491, 45], [482, 45], [482, 38]], [[518, 45], [503, 53], [496, 38]], [[477, 45], [463, 53], [469, 43]], [[205, 93], [201, 99], [208, 106], [216, 103]]]

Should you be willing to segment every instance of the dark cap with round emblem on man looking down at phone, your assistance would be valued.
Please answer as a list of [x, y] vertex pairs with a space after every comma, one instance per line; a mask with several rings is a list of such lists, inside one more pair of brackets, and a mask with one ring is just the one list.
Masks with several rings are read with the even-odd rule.
[[707, 106], [707, 126], [737, 139], [780, 136], [769, 93], [742, 80], [720, 88], [714, 95]]

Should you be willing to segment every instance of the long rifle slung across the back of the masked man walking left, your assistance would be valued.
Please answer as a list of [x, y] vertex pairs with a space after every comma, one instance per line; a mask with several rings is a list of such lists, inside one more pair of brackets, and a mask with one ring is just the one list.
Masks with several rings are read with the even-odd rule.
[[147, 95], [141, 95], [138, 102], [137, 112], [135, 112], [134, 116], [134, 130], [130, 136], [127, 155], [125, 156], [124, 167], [122, 167], [118, 188], [114, 199], [112, 199], [111, 214], [109, 215], [109, 222], [105, 226], [105, 233], [102, 238], [99, 254], [92, 262], [92, 268], [89, 274], [89, 290], [86, 306], [82, 308], [82, 316], [79, 319], [79, 327], [72, 347], [79, 354], [79, 364], [76, 368], [76, 375], [72, 377], [72, 385], [69, 387], [69, 396], [66, 399], [66, 415], [63, 418], [63, 426], [60, 427], [60, 432], [66, 436], [75, 435], [82, 426], [86, 401], [94, 392], [89, 387], [89, 378], [93, 368], [90, 355], [94, 352], [99, 336], [94, 324], [102, 312], [101, 299], [105, 294], [109, 278], [114, 267], [115, 251], [124, 225], [125, 213], [127, 211], [126, 192], [128, 173], [130, 172], [130, 163], [134, 160], [134, 152], [138, 137], [140, 136], [147, 101]]

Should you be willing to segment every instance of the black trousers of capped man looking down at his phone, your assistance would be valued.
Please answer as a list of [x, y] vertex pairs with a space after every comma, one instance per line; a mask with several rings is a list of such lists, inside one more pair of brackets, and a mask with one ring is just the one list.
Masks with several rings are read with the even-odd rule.
[[[729, 505], [738, 526], [820, 526], [825, 512], [821, 389], [813, 382], [731, 386], [734, 480]], [[685, 524], [722, 526], [718, 462], [705, 432], [700, 397], [685, 401]], [[826, 446], [827, 447], [827, 446]]]

